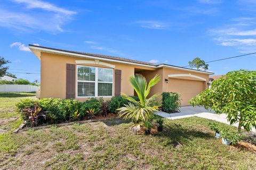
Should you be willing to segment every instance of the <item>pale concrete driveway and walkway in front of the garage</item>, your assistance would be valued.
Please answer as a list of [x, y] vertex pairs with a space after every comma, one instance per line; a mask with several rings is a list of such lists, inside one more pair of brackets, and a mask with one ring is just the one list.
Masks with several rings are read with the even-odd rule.
[[[229, 124], [227, 121], [227, 116], [225, 114], [215, 114], [214, 112], [207, 111], [204, 107], [193, 107], [193, 106], [183, 106], [180, 108], [179, 113], [165, 113], [165, 112], [158, 112], [157, 115], [168, 118], [170, 120], [178, 119], [178, 118], [186, 118], [186, 117], [202, 117], [207, 118], [210, 120], [218, 121], [221, 123]], [[238, 126], [238, 123], [235, 123], [234, 126]], [[255, 129], [252, 130], [256, 132]]]

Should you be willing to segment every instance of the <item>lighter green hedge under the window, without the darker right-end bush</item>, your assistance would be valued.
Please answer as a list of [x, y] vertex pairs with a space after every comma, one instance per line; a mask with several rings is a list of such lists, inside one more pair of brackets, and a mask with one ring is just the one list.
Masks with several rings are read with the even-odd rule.
[[[59, 123], [70, 120], [81, 120], [87, 111], [94, 109], [95, 114], [100, 112], [103, 99], [91, 98], [81, 103], [75, 99], [43, 98], [23, 99], [16, 104], [17, 111], [22, 113], [25, 108], [34, 107], [35, 104], [42, 108], [46, 114], [47, 123]], [[28, 116], [22, 114], [23, 120], [28, 121]]]

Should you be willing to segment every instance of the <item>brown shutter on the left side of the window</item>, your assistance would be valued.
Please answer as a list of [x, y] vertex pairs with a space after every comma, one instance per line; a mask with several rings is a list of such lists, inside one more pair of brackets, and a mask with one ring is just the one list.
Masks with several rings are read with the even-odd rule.
[[67, 64], [66, 76], [66, 98], [75, 98], [76, 65]]

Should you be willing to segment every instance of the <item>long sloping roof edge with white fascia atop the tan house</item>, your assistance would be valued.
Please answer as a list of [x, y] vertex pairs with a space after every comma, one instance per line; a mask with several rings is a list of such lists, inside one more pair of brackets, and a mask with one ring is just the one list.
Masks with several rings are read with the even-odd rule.
[[47, 52], [47, 53], [55, 53], [55, 54], [62, 54], [62, 55], [73, 55], [77, 57], [85, 57], [85, 58], [92, 58], [92, 59], [98, 59], [98, 60], [105, 60], [110, 62], [119, 62], [119, 63], [126, 63], [126, 64], [135, 64], [135, 65], [142, 65], [142, 66], [148, 66], [148, 67], [172, 67], [173, 69], [178, 70], [188, 70], [192, 72], [200, 72], [204, 74], [214, 74], [213, 72], [207, 72], [207, 71], [201, 71], [201, 70], [195, 70], [195, 69], [188, 69], [185, 67], [170, 65], [170, 64], [152, 64], [148, 62], [141, 62], [136, 60], [130, 60], [127, 58], [121, 58], [121, 57], [114, 57], [109, 55], [101, 55], [101, 54], [91, 54], [91, 53], [82, 53], [82, 52], [75, 52], [71, 50], [63, 50], [63, 49], [57, 49], [57, 48], [50, 48], [50, 47], [43, 47], [43, 46], [36, 46], [29, 44], [30, 50], [39, 58], [40, 60], [40, 52]]

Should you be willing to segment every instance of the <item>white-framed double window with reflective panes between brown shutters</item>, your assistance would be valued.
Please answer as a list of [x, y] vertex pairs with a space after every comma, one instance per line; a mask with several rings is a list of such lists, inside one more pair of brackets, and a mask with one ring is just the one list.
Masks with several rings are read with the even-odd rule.
[[113, 96], [113, 69], [77, 65], [77, 97]]

